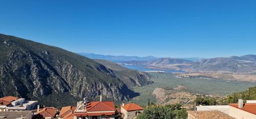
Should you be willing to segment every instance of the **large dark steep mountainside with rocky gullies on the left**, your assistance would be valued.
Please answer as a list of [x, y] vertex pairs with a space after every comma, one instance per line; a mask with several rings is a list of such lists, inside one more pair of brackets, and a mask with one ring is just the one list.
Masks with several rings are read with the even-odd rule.
[[[130, 90], [112, 69], [58, 47], [0, 34], [0, 97], [129, 99]], [[61, 97], [59, 97], [61, 99]], [[67, 99], [66, 99], [67, 100]]]

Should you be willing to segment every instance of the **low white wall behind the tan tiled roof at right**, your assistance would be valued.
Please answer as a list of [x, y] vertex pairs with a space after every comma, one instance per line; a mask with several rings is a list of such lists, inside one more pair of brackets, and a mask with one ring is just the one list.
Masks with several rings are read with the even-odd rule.
[[210, 110], [218, 110], [223, 113], [229, 114], [229, 105], [197, 106], [197, 111], [210, 111]]

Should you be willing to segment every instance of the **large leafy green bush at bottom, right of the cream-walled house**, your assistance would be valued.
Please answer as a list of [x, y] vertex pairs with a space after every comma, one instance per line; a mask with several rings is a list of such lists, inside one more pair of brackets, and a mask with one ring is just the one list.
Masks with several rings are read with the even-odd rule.
[[181, 108], [180, 104], [175, 105], [151, 105], [144, 109], [144, 113], [138, 116], [138, 119], [172, 119], [186, 118], [186, 109]]

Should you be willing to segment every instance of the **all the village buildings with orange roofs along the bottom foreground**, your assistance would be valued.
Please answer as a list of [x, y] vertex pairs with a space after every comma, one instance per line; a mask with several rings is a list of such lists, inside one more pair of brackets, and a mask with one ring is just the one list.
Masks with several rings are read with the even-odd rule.
[[[245, 102], [245, 103], [244, 103]], [[61, 102], [60, 102], [61, 103]], [[117, 108], [113, 101], [87, 102], [86, 99], [77, 102], [76, 106], [55, 107], [40, 106], [37, 101], [27, 101], [24, 98], [7, 96], [0, 99], [0, 118], [6, 119], [135, 119], [140, 114], [148, 113], [148, 108], [161, 107], [150, 104], [145, 108], [135, 103], [122, 103]], [[144, 110], [147, 110], [144, 112]], [[199, 105], [186, 112], [188, 119], [196, 118], [256, 118], [256, 100], [238, 100], [229, 105]], [[138, 117], [139, 118], [139, 117]], [[177, 116], [176, 116], [177, 118]], [[179, 118], [179, 117], [178, 117]]]

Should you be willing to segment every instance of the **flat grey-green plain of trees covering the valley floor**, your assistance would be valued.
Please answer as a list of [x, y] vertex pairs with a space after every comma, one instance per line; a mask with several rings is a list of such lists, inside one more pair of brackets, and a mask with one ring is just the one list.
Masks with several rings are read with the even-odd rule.
[[[172, 88], [182, 85], [188, 88], [187, 91], [191, 93], [212, 94], [218, 96], [225, 96], [230, 93], [240, 92], [253, 87], [256, 83], [241, 82], [241, 81], [227, 81], [223, 79], [199, 79], [199, 78], [177, 78], [174, 74], [169, 73], [149, 73], [152, 75], [152, 80], [155, 82], [152, 85], [133, 87], [135, 92], [139, 92], [140, 96], [132, 100], [141, 106], [146, 106], [148, 99], [151, 102], [157, 103], [156, 98], [152, 92], [157, 87]], [[216, 103], [214, 103], [216, 105]], [[221, 102], [218, 99], [218, 105]]]

